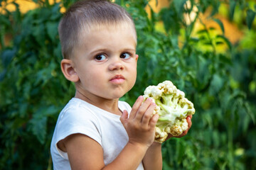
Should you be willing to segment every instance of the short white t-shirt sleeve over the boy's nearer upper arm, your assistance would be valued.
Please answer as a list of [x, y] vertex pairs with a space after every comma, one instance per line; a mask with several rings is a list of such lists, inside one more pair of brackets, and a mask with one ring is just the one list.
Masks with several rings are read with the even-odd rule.
[[68, 108], [68, 110], [64, 111], [63, 115], [60, 116], [60, 120], [56, 127], [55, 147], [57, 148], [61, 157], [68, 159], [68, 154], [66, 152], [62, 152], [58, 148], [57, 143], [69, 135], [76, 133], [87, 135], [102, 145], [99, 122], [97, 117], [94, 115], [94, 113], [92, 113], [92, 111], [90, 111], [90, 109]]

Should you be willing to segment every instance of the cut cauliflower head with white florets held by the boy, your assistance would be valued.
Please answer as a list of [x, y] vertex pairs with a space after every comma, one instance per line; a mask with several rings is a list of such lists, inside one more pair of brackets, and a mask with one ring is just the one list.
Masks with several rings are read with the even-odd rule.
[[183, 91], [171, 81], [164, 81], [157, 86], [148, 86], [144, 91], [144, 100], [151, 98], [156, 103], [153, 114], [159, 114], [155, 128], [155, 141], [164, 142], [169, 134], [181, 135], [188, 129], [186, 117], [195, 113], [193, 103], [185, 98]]

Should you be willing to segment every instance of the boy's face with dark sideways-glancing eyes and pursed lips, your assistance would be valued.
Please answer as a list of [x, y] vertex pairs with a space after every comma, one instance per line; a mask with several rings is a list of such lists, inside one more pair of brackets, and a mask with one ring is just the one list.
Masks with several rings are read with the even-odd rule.
[[77, 91], [87, 98], [116, 99], [126, 94], [137, 77], [136, 44], [132, 28], [86, 33], [73, 57], [80, 79]]

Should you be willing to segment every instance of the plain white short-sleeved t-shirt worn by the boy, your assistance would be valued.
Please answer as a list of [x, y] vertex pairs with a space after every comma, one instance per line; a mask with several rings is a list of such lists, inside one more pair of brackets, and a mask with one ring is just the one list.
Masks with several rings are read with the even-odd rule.
[[[124, 101], [119, 101], [118, 107], [121, 111], [131, 111], [129, 104]], [[104, 111], [79, 98], [72, 98], [60, 112], [53, 133], [50, 145], [53, 169], [71, 169], [67, 152], [61, 151], [57, 143], [75, 133], [87, 135], [98, 142], [103, 149], [105, 164], [110, 164], [128, 142], [127, 132], [119, 118], [119, 115]], [[141, 162], [137, 170], [142, 169]]]

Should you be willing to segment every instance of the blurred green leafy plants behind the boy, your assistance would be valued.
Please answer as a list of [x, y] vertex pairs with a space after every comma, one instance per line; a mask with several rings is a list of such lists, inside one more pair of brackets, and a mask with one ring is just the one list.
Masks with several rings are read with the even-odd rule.
[[[154, 0], [152, 0], [154, 1]], [[60, 6], [36, 1], [27, 13], [6, 11], [0, 16], [0, 169], [52, 169], [50, 140], [58, 113], [74, 94], [60, 71], [58, 22]], [[173, 0], [160, 13], [147, 16], [146, 0], [116, 1], [127, 8], [137, 26], [138, 77], [122, 100], [132, 105], [146, 86], [169, 79], [193, 101], [196, 114], [186, 137], [163, 144], [164, 169], [256, 169], [256, 5], [253, 1], [193, 1], [198, 13], [212, 8], [215, 28], [186, 25], [184, 0]], [[227, 4], [227, 16], [244, 38], [232, 45], [223, 23], [215, 18]], [[4, 6], [2, 6], [4, 7]], [[164, 22], [162, 30], [157, 23]], [[11, 35], [6, 45], [4, 36]], [[183, 44], [179, 47], [179, 38]], [[227, 45], [228, 50], [218, 52]]]

